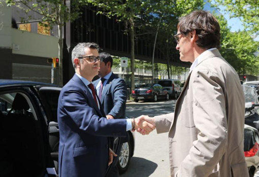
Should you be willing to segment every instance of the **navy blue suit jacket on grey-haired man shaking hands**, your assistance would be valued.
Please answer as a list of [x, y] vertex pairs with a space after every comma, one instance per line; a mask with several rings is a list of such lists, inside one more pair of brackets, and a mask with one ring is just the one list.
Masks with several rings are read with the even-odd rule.
[[107, 120], [77, 75], [60, 92], [57, 116], [59, 176], [105, 176], [109, 136], [125, 136], [126, 120]]

